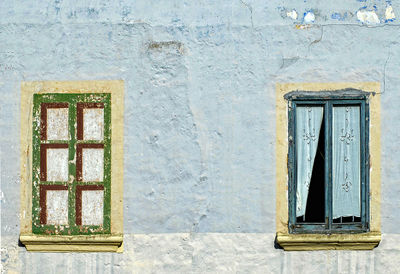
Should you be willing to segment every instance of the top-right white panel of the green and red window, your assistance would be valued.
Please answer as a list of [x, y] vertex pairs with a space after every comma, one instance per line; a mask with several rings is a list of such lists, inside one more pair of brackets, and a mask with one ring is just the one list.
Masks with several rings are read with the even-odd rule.
[[104, 109], [84, 108], [83, 109], [83, 139], [103, 140], [104, 139]]

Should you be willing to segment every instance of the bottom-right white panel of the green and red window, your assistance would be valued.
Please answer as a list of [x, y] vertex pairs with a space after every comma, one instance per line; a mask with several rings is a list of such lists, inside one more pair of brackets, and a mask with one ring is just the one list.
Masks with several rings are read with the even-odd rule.
[[104, 191], [82, 191], [82, 225], [103, 224]]

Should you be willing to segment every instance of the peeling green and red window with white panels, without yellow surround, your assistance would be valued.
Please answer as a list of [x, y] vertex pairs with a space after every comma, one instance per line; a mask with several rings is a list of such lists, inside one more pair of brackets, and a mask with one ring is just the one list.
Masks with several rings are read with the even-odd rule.
[[110, 233], [110, 115], [107, 93], [33, 95], [33, 233]]

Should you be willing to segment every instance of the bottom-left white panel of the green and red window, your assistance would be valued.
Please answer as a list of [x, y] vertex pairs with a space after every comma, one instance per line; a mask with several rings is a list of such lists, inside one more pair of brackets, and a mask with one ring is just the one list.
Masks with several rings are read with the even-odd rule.
[[48, 224], [68, 224], [68, 190], [47, 190], [46, 207]]

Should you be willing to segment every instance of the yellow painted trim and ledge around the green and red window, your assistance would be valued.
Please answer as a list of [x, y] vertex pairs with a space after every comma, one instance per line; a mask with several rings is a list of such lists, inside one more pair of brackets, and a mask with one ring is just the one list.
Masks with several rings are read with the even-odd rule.
[[[111, 94], [111, 233], [102, 235], [32, 234], [32, 108], [35, 93]], [[122, 252], [123, 242], [123, 115], [124, 82], [36, 81], [21, 84], [21, 233], [28, 251]]]

